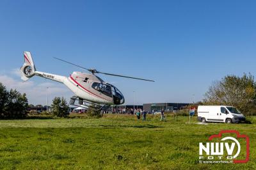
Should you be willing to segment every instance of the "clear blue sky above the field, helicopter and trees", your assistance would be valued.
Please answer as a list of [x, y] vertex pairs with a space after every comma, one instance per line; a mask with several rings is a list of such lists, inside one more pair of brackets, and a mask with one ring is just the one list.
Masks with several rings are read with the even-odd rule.
[[[99, 75], [125, 104], [197, 102], [225, 75], [256, 74], [256, 1], [0, 1], [0, 82], [46, 105], [73, 93], [41, 77], [22, 82], [29, 50], [36, 70], [68, 76], [86, 68], [156, 82]], [[133, 92], [134, 91], [134, 92]]]

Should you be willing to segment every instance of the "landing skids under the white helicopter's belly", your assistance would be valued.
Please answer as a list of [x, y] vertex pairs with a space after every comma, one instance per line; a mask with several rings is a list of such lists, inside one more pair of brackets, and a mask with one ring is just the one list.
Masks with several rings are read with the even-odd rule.
[[[78, 100], [78, 104], [75, 104], [76, 100]], [[89, 102], [87, 100], [81, 99], [79, 97], [71, 97], [70, 98], [70, 105], [76, 105], [77, 107], [83, 107], [85, 109], [92, 109], [93, 111], [102, 111], [104, 109], [108, 109], [108, 107], [110, 105], [106, 104], [106, 105], [100, 105], [94, 102]]]

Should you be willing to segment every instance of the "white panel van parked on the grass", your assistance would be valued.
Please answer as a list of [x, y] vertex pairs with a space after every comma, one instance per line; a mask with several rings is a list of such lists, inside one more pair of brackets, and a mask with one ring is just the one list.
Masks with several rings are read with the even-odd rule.
[[199, 105], [198, 121], [203, 123], [207, 121], [224, 122], [224, 123], [239, 123], [245, 121], [245, 117], [239, 112], [236, 107], [227, 105]]

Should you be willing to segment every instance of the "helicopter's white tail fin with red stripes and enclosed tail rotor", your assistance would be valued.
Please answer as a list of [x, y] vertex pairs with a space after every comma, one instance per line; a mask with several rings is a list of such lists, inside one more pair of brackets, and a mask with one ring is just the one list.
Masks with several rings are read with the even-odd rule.
[[24, 51], [24, 64], [20, 67], [21, 79], [27, 81], [35, 75], [35, 65], [29, 51]]

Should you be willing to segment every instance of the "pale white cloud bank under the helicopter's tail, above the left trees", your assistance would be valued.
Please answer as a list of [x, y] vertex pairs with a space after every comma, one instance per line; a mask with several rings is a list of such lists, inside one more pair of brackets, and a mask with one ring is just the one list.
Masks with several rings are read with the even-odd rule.
[[[18, 72], [11, 72], [17, 75]], [[47, 90], [48, 99], [51, 104], [54, 97], [65, 97], [67, 102], [72, 97], [73, 93], [60, 83], [56, 82], [42, 82], [36, 83], [34, 81], [22, 82], [20, 78], [15, 79], [9, 75], [0, 74], [0, 82], [6, 86], [7, 89], [17, 89], [20, 93], [26, 93], [29, 104], [42, 104], [46, 105]], [[48, 89], [47, 89], [48, 88]]]

